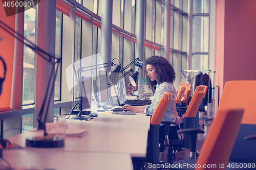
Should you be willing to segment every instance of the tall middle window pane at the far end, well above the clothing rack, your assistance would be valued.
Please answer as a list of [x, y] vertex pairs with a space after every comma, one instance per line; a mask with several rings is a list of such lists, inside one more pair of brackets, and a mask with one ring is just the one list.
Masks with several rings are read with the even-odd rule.
[[208, 52], [209, 45], [209, 17], [193, 17], [193, 52]]

